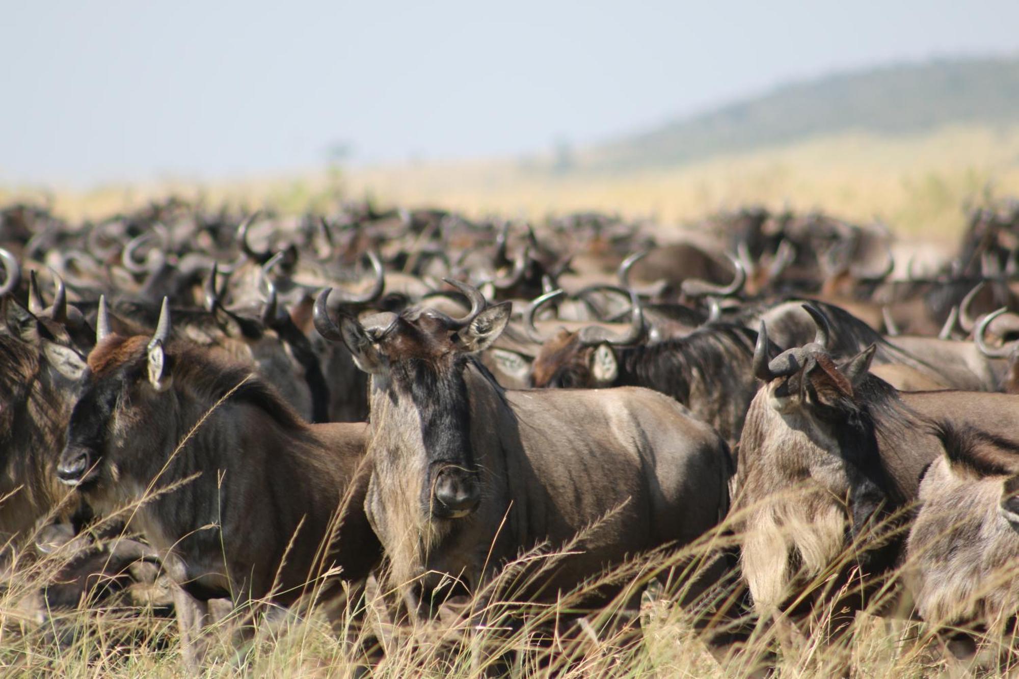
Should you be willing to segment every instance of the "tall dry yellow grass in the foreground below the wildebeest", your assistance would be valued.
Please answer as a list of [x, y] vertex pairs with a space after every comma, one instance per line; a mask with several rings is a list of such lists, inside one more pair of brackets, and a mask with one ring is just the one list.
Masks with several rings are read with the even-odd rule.
[[[158, 492], [163, 491], [172, 488]], [[795, 502], [796, 491], [791, 493]], [[124, 515], [150, 500], [125, 507]], [[694, 544], [635, 557], [560, 592], [550, 603], [527, 602], [523, 592], [533, 590], [549, 570], [580, 549], [583, 534], [570, 544], [555, 549], [542, 544], [522, 553], [469, 600], [439, 607], [427, 623], [396, 619], [393, 604], [399, 599], [399, 587], [408, 583], [389, 583], [384, 574], [364, 600], [344, 602], [338, 625], [330, 624], [318, 609], [287, 612], [257, 602], [254, 619], [246, 609], [211, 627], [205, 673], [742, 677], [759, 676], [767, 664], [773, 664], [783, 677], [846, 672], [860, 677], [926, 677], [960, 671], [947, 660], [937, 628], [904, 615], [909, 605], [908, 598], [902, 603], [901, 581], [908, 565], [879, 583], [852, 577], [841, 581], [839, 573], [859, 573], [854, 571], [858, 555], [847, 552], [824, 572], [794, 588], [794, 594], [804, 596], [833, 589], [837, 594], [822, 599], [797, 631], [791, 631], [782, 617], [759, 620], [740, 609], [738, 570], [729, 567], [720, 574], [715, 566], [720, 553], [738, 544], [739, 535], [733, 531], [741, 519], [730, 516], [718, 530]], [[874, 527], [874, 535], [887, 539], [890, 525]], [[861, 540], [873, 543], [871, 535]], [[0, 668], [5, 676], [191, 676], [176, 627], [165, 609], [147, 602], [148, 590], [124, 592], [105, 608], [44, 613], [34, 608], [40, 588], [74, 555], [73, 545], [42, 558], [16, 553], [13, 575], [0, 593]], [[1005, 575], [1019, 575], [1019, 564]], [[320, 583], [320, 579], [312, 582], [312, 596]], [[872, 585], [876, 595], [848, 629], [829, 639], [830, 629], [838, 627], [833, 622], [844, 617], [835, 602], [852, 600], [862, 587]], [[619, 591], [605, 606], [591, 609], [592, 596], [606, 587]], [[898, 613], [890, 615], [897, 600]], [[726, 617], [722, 612], [733, 615]], [[242, 625], [251, 628], [242, 634]], [[734, 628], [749, 633], [749, 638], [742, 645], [712, 647], [712, 637]], [[1002, 640], [985, 641], [990, 650], [982, 660], [989, 669], [981, 676], [1010, 676], [1015, 668], [1002, 669], [994, 663], [996, 644]]]

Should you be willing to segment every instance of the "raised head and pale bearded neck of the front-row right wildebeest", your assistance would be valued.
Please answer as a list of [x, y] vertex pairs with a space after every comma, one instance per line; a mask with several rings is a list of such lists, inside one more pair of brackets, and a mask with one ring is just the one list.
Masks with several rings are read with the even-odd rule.
[[[853, 536], [864, 535], [902, 501], [880, 457], [879, 434], [888, 416], [905, 415], [893, 405], [896, 391], [867, 373], [874, 346], [836, 364], [826, 349], [827, 319], [804, 306], [817, 324], [814, 341], [770, 360], [761, 323], [753, 365], [764, 384], [740, 438], [743, 570], [761, 611], [782, 606], [794, 579], [809, 582], [838, 558], [847, 520]], [[867, 556], [873, 564], [886, 558]]]

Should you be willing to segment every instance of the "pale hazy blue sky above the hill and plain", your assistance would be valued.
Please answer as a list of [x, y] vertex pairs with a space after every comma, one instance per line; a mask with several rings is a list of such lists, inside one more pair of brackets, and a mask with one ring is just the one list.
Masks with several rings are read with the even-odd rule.
[[1019, 52], [1016, 0], [7, 2], [0, 182], [603, 140], [803, 79]]

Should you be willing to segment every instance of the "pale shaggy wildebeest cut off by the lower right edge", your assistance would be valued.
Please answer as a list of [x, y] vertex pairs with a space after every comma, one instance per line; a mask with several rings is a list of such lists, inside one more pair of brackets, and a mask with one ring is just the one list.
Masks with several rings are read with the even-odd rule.
[[991, 643], [1013, 636], [1019, 615], [1019, 442], [965, 425], [936, 432], [945, 455], [920, 482], [910, 585], [920, 617], [970, 660], [975, 634]]

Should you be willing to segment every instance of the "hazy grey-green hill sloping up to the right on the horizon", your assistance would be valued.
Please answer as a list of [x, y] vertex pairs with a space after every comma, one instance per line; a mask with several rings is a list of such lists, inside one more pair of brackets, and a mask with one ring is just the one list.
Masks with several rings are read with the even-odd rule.
[[664, 167], [844, 133], [1019, 122], [1019, 58], [941, 59], [827, 75], [589, 149], [577, 167]]

